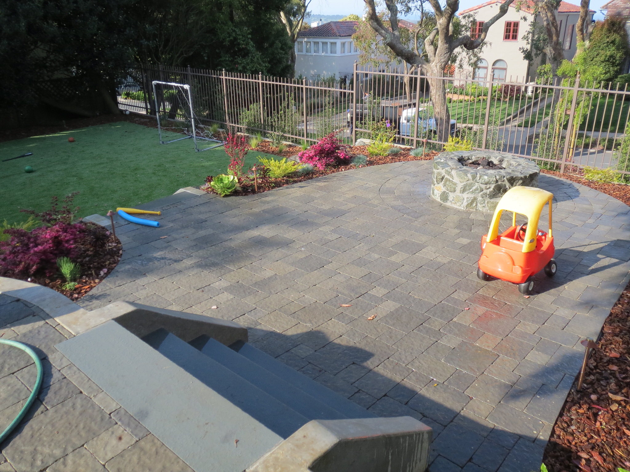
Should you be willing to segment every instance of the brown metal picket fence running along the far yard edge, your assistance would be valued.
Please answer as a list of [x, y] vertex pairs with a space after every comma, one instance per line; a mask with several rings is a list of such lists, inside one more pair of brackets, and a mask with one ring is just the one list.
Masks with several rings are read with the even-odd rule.
[[154, 115], [151, 82], [180, 82], [190, 85], [203, 125], [295, 143], [336, 132], [355, 143], [389, 120], [396, 143], [441, 150], [428, 85], [437, 79], [447, 89], [450, 134], [473, 149], [503, 150], [561, 172], [591, 166], [630, 174], [626, 84], [438, 78], [356, 65], [349, 78], [326, 82], [162, 66], [140, 66], [123, 76], [118, 105], [130, 111]]

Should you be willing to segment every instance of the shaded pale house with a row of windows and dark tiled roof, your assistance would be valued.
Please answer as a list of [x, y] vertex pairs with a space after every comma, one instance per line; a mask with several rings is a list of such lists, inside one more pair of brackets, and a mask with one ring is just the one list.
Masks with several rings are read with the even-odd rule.
[[352, 41], [358, 21], [329, 21], [300, 31], [295, 42], [295, 76], [317, 81], [352, 77], [358, 51]]

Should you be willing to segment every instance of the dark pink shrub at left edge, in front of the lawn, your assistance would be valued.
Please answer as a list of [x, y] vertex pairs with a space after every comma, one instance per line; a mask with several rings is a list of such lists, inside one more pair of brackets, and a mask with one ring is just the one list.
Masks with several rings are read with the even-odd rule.
[[77, 243], [84, 239], [81, 223], [57, 222], [32, 231], [7, 229], [8, 241], [0, 242], [0, 276], [26, 278], [57, 273], [57, 257], [77, 256]]

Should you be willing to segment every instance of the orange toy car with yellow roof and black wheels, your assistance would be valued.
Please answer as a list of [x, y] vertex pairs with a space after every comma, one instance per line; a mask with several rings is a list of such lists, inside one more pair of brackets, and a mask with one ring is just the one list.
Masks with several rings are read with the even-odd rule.
[[[518, 291], [529, 295], [534, 289], [534, 275], [544, 269], [548, 277], [556, 275], [551, 204], [553, 193], [533, 187], [512, 187], [500, 199], [488, 234], [481, 238], [481, 257], [477, 276], [491, 277], [518, 284]], [[538, 229], [542, 209], [549, 204], [549, 232]], [[512, 226], [499, 234], [503, 211], [512, 212]], [[516, 215], [527, 217], [524, 225], [516, 224]]]

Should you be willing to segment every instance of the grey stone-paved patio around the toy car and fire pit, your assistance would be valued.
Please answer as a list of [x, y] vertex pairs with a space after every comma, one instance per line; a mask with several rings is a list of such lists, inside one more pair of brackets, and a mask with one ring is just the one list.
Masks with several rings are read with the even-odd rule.
[[428, 198], [431, 166], [150, 203], [161, 228], [119, 227], [123, 259], [81, 305], [235, 320], [253, 344], [372, 412], [433, 427], [432, 471], [537, 470], [579, 342], [597, 336], [629, 279], [630, 209], [541, 176], [556, 196], [558, 274], [524, 298], [476, 278], [490, 215]]

